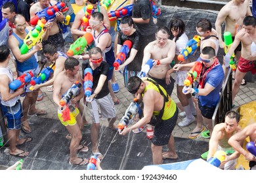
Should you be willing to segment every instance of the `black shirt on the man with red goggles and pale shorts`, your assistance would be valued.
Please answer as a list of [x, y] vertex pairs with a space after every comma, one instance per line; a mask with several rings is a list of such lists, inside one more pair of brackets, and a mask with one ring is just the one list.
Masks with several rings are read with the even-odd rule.
[[[89, 64], [88, 60], [85, 61], [84, 68], [85, 69], [91, 68], [91, 65]], [[95, 88], [98, 86], [98, 80], [100, 79], [100, 75], [108, 76], [108, 70], [109, 70], [109, 66], [108, 66], [108, 63], [106, 63], [106, 61], [102, 61], [100, 63], [100, 66], [98, 66], [95, 70], [93, 70], [93, 92], [95, 91]], [[110, 90], [108, 90], [108, 80], [106, 79], [102, 87], [102, 90], [100, 91], [100, 93], [96, 95], [95, 99], [101, 99], [106, 95], [108, 95], [108, 93], [110, 93]]]

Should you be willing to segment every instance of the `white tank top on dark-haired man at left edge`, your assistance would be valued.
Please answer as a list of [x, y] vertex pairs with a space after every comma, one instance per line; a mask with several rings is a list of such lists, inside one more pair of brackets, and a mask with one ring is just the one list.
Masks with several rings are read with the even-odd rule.
[[[10, 78], [10, 80], [13, 81], [12, 71], [9, 67], [0, 67], [0, 75], [7, 75]], [[10, 93], [14, 93], [14, 91], [10, 89]], [[12, 107], [16, 104], [18, 99], [20, 99], [20, 95], [18, 95], [16, 97], [14, 97], [13, 99], [5, 102], [5, 101], [3, 101], [2, 95], [0, 93], [0, 99], [1, 99], [1, 104], [2, 105]]]

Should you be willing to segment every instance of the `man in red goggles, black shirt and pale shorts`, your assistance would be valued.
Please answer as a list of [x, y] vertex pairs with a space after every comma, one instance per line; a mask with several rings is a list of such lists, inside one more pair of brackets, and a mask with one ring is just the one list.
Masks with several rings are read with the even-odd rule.
[[102, 117], [108, 118], [108, 127], [116, 130], [114, 122], [116, 122], [116, 109], [114, 102], [110, 96], [108, 89], [108, 70], [109, 65], [106, 61], [102, 61], [102, 51], [95, 47], [89, 50], [89, 61], [85, 62], [84, 68], [91, 68], [93, 70], [93, 94], [86, 97], [87, 107], [90, 108], [93, 125], [91, 127], [91, 142], [93, 145], [93, 154], [98, 155], [99, 159], [103, 156], [98, 149], [98, 135], [100, 134], [100, 115], [98, 108], [100, 108]]

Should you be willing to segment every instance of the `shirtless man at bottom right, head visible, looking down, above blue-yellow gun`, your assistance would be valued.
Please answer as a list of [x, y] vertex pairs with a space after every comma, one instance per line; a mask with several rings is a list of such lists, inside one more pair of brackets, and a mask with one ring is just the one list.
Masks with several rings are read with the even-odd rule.
[[219, 168], [224, 170], [234, 170], [236, 160], [240, 156], [239, 152], [234, 152], [234, 149], [228, 144], [228, 139], [232, 135], [241, 131], [241, 127], [238, 125], [240, 120], [240, 114], [235, 111], [226, 112], [225, 122], [215, 125], [213, 133], [211, 133], [211, 139], [209, 141], [209, 153], [207, 160], [214, 156], [215, 152], [223, 150], [226, 152], [226, 157], [221, 163]]

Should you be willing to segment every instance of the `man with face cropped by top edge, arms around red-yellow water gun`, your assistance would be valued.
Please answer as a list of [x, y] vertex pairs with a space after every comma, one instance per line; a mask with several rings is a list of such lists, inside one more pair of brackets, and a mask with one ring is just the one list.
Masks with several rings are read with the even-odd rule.
[[[104, 7], [98, 5], [98, 1], [99, 0], [86, 0], [85, 2], [87, 3], [87, 5], [93, 5], [93, 12], [101, 12], [103, 14], [103, 25], [107, 29], [110, 29], [110, 20], [108, 19], [108, 12]], [[81, 22], [83, 22], [83, 16], [85, 15], [86, 8], [87, 7], [83, 7], [81, 10], [79, 10], [79, 12], [77, 12], [77, 14], [75, 14], [74, 24], [71, 27], [72, 35], [77, 35], [80, 37], [85, 34], [85, 31], [92, 31], [91, 24], [89, 27], [81, 27]]]

